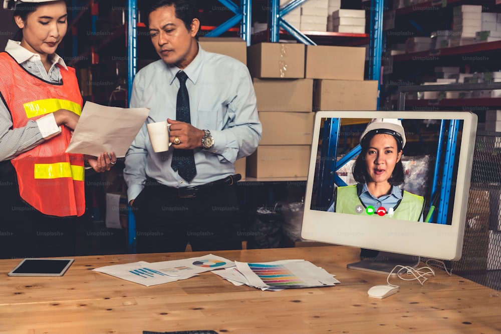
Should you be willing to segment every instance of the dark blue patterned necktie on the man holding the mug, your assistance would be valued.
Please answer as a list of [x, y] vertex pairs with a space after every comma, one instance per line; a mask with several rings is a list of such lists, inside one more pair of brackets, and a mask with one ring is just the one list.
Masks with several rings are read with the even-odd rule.
[[[189, 115], [189, 96], [186, 89], [186, 80], [188, 76], [183, 71], [176, 74], [179, 80], [179, 90], [177, 91], [176, 103], [176, 120], [191, 124]], [[195, 158], [193, 157], [193, 150], [182, 150], [174, 148], [172, 154], [172, 163], [170, 165], [174, 171], [179, 173], [183, 179], [191, 182], [196, 175]]]

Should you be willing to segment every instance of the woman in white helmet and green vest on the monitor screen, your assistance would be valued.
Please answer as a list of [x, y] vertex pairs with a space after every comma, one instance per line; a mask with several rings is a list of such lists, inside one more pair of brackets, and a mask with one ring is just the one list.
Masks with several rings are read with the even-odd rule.
[[356, 214], [364, 210], [386, 218], [423, 221], [424, 197], [398, 187], [404, 182], [402, 122], [372, 119], [360, 136], [360, 146], [353, 166], [357, 184], [337, 187], [327, 211]]

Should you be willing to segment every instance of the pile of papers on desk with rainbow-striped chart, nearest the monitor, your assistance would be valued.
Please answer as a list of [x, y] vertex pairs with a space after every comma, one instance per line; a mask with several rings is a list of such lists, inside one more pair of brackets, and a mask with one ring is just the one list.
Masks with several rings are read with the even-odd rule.
[[[281, 260], [262, 263], [235, 261], [235, 268], [213, 273], [235, 285], [246, 284], [262, 290], [283, 290], [335, 285], [339, 281], [335, 275], [306, 260]], [[236, 282], [236, 283], [235, 283]]]

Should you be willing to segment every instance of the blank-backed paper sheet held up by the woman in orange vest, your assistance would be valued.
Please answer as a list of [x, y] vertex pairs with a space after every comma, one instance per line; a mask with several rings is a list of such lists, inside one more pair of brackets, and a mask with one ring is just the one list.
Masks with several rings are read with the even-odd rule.
[[113, 151], [117, 158], [125, 157], [148, 113], [148, 108], [107, 107], [87, 101], [66, 152], [99, 156]]

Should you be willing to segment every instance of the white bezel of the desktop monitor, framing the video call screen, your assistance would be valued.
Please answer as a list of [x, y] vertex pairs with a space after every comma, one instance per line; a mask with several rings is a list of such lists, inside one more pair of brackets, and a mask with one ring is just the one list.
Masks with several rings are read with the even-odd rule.
[[[451, 225], [381, 219], [311, 209], [318, 140], [322, 118], [399, 118], [462, 120], [459, 165]], [[461, 257], [477, 116], [471, 112], [427, 111], [319, 111], [315, 115], [313, 143], [305, 195], [301, 236], [307, 240], [376, 249], [394, 253], [458, 260]], [[377, 224], [373, 219], [378, 219]]]

